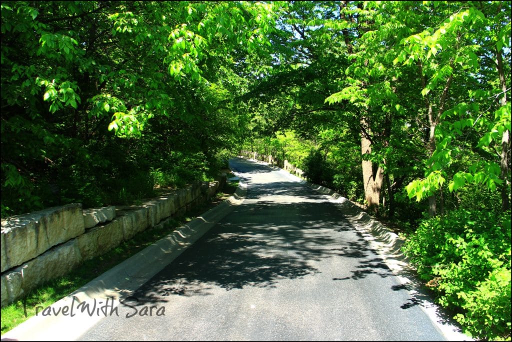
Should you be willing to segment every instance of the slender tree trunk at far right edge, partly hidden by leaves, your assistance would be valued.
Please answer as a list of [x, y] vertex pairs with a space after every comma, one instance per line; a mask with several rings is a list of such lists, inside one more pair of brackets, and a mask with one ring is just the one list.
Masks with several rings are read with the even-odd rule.
[[[498, 75], [500, 78], [500, 86], [502, 91], [502, 97], [500, 99], [500, 105], [504, 106], [507, 104], [507, 85], [505, 82], [505, 72], [503, 69], [503, 57], [500, 50], [496, 50], [496, 59], [498, 62]], [[501, 158], [500, 158], [500, 179], [503, 181], [501, 186], [501, 208], [506, 211], [510, 208], [510, 202], [508, 200], [508, 193], [510, 190], [510, 183], [508, 182], [508, 150], [510, 148], [510, 138], [508, 130], [503, 132], [501, 137]]]

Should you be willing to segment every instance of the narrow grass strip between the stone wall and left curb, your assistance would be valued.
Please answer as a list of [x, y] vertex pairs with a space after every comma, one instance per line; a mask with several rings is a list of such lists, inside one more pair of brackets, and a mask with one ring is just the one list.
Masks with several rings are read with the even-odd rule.
[[[219, 193], [221, 196], [218, 196], [210, 203], [205, 203], [187, 212], [186, 217], [177, 221], [171, 220], [164, 227], [146, 229], [138, 233], [133, 239], [123, 242], [100, 257], [82, 263], [66, 276], [43, 284], [32, 290], [25, 298], [2, 308], [2, 334], [34, 316], [36, 307], [46, 308], [52, 305], [71, 292], [86, 285], [103, 272], [108, 271], [155, 241], [165, 237], [180, 225], [195, 219], [196, 216], [201, 215], [204, 211], [216, 206], [234, 192], [233, 184], [233, 182], [226, 184], [223, 191]], [[238, 186], [238, 181], [236, 184]], [[234, 188], [236, 189], [236, 187]]]

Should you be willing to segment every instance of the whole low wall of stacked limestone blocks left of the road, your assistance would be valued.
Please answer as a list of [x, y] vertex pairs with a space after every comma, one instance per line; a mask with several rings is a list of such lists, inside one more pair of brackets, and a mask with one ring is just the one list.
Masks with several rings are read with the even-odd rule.
[[170, 226], [225, 182], [169, 190], [141, 205], [82, 210], [74, 203], [2, 219], [2, 307], [147, 228]]

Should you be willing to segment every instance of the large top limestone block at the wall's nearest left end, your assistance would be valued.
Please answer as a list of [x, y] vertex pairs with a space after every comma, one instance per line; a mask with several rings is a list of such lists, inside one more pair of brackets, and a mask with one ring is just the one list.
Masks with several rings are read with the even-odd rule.
[[2, 272], [79, 236], [84, 229], [80, 203], [2, 219]]

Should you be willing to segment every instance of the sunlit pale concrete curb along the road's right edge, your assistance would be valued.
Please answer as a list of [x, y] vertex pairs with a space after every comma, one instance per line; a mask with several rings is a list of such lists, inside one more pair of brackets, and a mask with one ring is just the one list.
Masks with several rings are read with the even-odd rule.
[[255, 160], [239, 156], [263, 165], [271, 167], [273, 170], [284, 173], [292, 181], [302, 183], [318, 193], [331, 197], [329, 202], [334, 203], [336, 207], [344, 214], [347, 220], [353, 224], [355, 229], [370, 243], [372, 248], [379, 251], [380, 256], [397, 276], [399, 282], [407, 288], [411, 296], [420, 305], [420, 308], [432, 320], [436, 328], [452, 341], [473, 341], [474, 339], [460, 332], [460, 329], [452, 323], [451, 317], [446, 317], [440, 308], [430, 301], [430, 296], [422, 289], [422, 283], [417, 279], [414, 268], [409, 265], [408, 258], [401, 251], [403, 240], [392, 232], [388, 227], [368, 215], [358, 205], [336, 193], [325, 186], [314, 184], [303, 180], [286, 170], [269, 164], [264, 161]]

